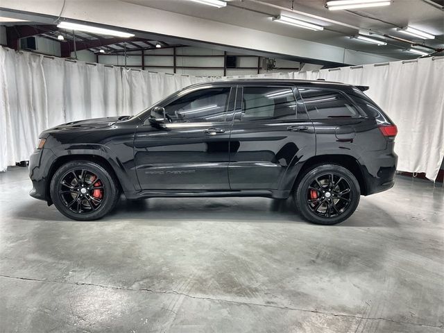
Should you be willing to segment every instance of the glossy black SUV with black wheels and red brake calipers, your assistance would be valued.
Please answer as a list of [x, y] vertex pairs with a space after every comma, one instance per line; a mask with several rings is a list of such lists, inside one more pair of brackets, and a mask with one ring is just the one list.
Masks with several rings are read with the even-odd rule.
[[396, 126], [363, 91], [321, 80], [191, 85], [133, 117], [45, 130], [31, 196], [71, 219], [128, 199], [291, 194], [300, 214], [334, 224], [359, 196], [393, 186]]

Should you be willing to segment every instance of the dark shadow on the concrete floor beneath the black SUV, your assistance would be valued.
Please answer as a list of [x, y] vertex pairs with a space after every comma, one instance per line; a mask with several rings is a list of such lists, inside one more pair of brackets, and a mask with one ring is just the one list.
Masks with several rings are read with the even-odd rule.
[[[370, 214], [371, 212], [371, 214]], [[63, 216], [53, 205], [46, 203], [22, 205], [14, 214], [17, 219], [39, 221], [73, 221]], [[150, 198], [126, 200], [121, 198], [110, 214], [101, 222], [157, 221], [179, 223], [186, 221], [304, 223], [291, 198]], [[157, 224], [157, 223], [156, 223]], [[386, 227], [395, 228], [398, 223], [388, 212], [372, 203], [361, 201], [358, 210], [350, 218], [337, 224], [341, 227]]]

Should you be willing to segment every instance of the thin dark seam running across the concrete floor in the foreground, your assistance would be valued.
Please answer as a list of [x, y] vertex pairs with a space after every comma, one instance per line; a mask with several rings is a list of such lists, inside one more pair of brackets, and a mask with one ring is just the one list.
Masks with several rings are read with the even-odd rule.
[[250, 303], [250, 302], [241, 302], [238, 300], [225, 300], [223, 298], [208, 298], [208, 297], [200, 297], [200, 296], [191, 296], [187, 293], [180, 293], [178, 291], [172, 290], [172, 291], [155, 291], [153, 289], [148, 288], [128, 288], [128, 287], [115, 287], [115, 286], [103, 286], [101, 284], [92, 284], [92, 283], [85, 283], [85, 282], [68, 282], [68, 281], [56, 281], [56, 280], [41, 280], [41, 279], [33, 279], [33, 278], [22, 278], [17, 276], [11, 276], [11, 275], [0, 275], [1, 278], [10, 278], [10, 279], [17, 279], [17, 280], [25, 280], [25, 281], [35, 281], [35, 282], [46, 282], [46, 283], [60, 283], [60, 284], [71, 284], [74, 286], [90, 286], [90, 287], [100, 287], [105, 289], [117, 289], [117, 290], [126, 290], [126, 291], [146, 291], [148, 293], [163, 293], [163, 294], [170, 294], [170, 295], [178, 295], [178, 296], [185, 296], [187, 298], [194, 298], [197, 300], [210, 300], [214, 302], [229, 302], [234, 303], [238, 305], [247, 305], [247, 306], [255, 306], [255, 307], [271, 307], [274, 309], [282, 309], [287, 311], [303, 311], [303, 312], [311, 312], [314, 314], [322, 314], [324, 316], [334, 316], [334, 317], [345, 317], [345, 318], [356, 318], [356, 319], [364, 319], [369, 321], [388, 321], [391, 323], [400, 323], [400, 324], [407, 324], [407, 325], [416, 325], [416, 326], [424, 326], [424, 327], [434, 327], [434, 328], [443, 328], [444, 325], [436, 326], [436, 325], [429, 325], [429, 324], [421, 324], [421, 323], [411, 323], [409, 321], [395, 321], [393, 319], [388, 318], [372, 318], [372, 317], [364, 317], [364, 316], [354, 316], [352, 314], [334, 314], [332, 312], [327, 311], [318, 311], [318, 310], [310, 310], [310, 309], [298, 309], [296, 307], [282, 307], [279, 305], [267, 305], [267, 304], [260, 304], [260, 303]]

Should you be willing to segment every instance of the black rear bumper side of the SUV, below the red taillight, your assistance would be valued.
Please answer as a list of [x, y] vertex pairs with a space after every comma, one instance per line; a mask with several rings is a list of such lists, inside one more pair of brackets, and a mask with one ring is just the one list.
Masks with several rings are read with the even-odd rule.
[[398, 155], [395, 153], [373, 155], [373, 158], [368, 159], [368, 162], [364, 164], [365, 170], [363, 170], [366, 180], [366, 196], [386, 191], [395, 185], [397, 164]]

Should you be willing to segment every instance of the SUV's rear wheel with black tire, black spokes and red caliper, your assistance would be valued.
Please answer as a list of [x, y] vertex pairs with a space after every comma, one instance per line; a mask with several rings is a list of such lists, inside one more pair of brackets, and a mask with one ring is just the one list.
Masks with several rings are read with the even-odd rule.
[[361, 190], [353, 174], [337, 164], [316, 165], [296, 185], [296, 208], [307, 221], [333, 225], [355, 212]]

